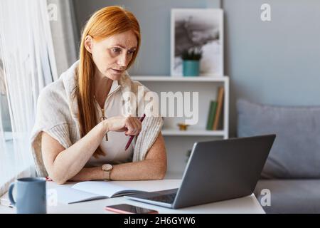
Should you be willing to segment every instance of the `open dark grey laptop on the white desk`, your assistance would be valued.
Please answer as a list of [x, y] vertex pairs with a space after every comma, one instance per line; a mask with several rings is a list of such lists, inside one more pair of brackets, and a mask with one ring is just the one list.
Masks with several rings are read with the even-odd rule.
[[178, 189], [127, 198], [177, 209], [252, 195], [275, 137], [195, 142]]

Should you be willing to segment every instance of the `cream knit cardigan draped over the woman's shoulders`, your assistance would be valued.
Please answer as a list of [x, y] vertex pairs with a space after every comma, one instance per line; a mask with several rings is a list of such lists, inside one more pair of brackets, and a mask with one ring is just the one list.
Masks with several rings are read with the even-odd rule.
[[[57, 81], [43, 88], [38, 97], [36, 123], [31, 133], [31, 149], [39, 176], [48, 176], [41, 152], [42, 132], [48, 133], [65, 148], [80, 140], [80, 127], [77, 115], [78, 103], [77, 99], [73, 98], [77, 69], [78, 61], [62, 73]], [[118, 83], [121, 86], [122, 95], [125, 92], [131, 91], [139, 98], [137, 95], [138, 86], [142, 86], [142, 84], [132, 81], [127, 72], [123, 74]], [[148, 90], [146, 87], [144, 89]], [[144, 102], [143, 98], [142, 100], [137, 100], [137, 102], [141, 104]], [[138, 103], [136, 107], [139, 107]], [[163, 124], [164, 122], [161, 117], [144, 118], [142, 131], [139, 133], [137, 140], [133, 141], [133, 162], [144, 160], [146, 153], [161, 132]]]

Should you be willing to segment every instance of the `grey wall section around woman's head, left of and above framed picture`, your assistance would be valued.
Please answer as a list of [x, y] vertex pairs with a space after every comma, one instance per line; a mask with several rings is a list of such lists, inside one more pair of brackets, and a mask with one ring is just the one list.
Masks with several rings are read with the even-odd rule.
[[[130, 73], [132, 75], [170, 74], [170, 14], [171, 8], [207, 8], [219, 7], [220, 0], [73, 0], [78, 28], [97, 9], [105, 6], [124, 6], [137, 17], [142, 31], [142, 47], [136, 63]], [[181, 4], [183, 3], [183, 4]], [[80, 32], [79, 32], [80, 33]]]

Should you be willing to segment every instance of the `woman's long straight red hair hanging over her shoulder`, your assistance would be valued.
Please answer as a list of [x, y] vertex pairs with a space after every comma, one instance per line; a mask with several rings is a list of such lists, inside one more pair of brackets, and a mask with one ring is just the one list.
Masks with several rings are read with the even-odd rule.
[[[127, 68], [132, 66], [141, 42], [139, 22], [136, 17], [120, 6], [108, 6], [96, 11], [85, 24], [82, 30], [80, 43], [78, 78], [75, 88], [75, 96], [78, 100], [78, 119], [80, 123], [81, 138], [97, 125], [96, 110], [94, 104], [94, 81], [95, 63], [92, 55], [85, 48], [85, 37], [92, 36], [96, 41], [113, 36], [125, 31], [133, 31], [137, 36], [137, 49], [134, 51], [132, 60]], [[95, 157], [105, 155], [100, 147], [93, 154]]]

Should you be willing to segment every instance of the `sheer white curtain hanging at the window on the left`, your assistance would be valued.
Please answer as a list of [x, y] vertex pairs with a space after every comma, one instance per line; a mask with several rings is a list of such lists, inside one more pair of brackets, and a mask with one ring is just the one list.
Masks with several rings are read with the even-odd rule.
[[[8, 183], [21, 175], [33, 175], [29, 138], [38, 94], [58, 78], [46, 1], [1, 0], [0, 33], [14, 146], [13, 150], [6, 148], [6, 155], [0, 148], [1, 180]], [[0, 195], [6, 186], [0, 182]]]

